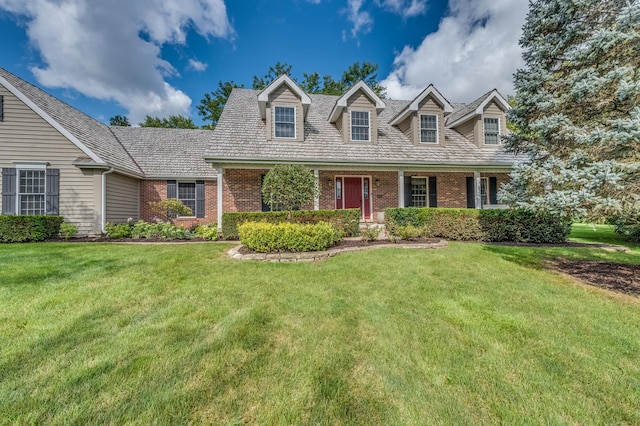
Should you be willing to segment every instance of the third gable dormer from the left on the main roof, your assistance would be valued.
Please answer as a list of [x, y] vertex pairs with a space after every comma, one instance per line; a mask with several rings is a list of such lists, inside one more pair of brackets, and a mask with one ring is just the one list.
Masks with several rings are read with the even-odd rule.
[[390, 124], [414, 145], [438, 145], [444, 143], [445, 117], [452, 112], [451, 104], [430, 84]]

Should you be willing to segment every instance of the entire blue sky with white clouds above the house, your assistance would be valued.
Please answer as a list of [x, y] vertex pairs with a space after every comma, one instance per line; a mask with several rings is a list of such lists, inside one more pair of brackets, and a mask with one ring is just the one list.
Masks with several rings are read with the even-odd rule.
[[0, 0], [0, 66], [87, 114], [183, 114], [218, 81], [251, 86], [378, 64], [391, 98], [512, 92], [527, 0]]

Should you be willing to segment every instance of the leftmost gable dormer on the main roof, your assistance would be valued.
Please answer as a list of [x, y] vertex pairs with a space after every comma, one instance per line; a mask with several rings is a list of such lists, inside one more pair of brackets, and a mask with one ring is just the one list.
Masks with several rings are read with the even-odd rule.
[[304, 141], [304, 121], [311, 98], [283, 74], [258, 94], [267, 140]]

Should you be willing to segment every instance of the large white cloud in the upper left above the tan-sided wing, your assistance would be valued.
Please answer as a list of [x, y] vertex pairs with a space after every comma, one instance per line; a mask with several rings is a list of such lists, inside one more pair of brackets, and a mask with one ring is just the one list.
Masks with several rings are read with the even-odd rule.
[[161, 58], [162, 45], [184, 44], [189, 28], [234, 35], [223, 0], [0, 0], [0, 9], [27, 18], [44, 62], [32, 69], [41, 84], [115, 100], [132, 123], [189, 113], [191, 99], [165, 82], [177, 71]]

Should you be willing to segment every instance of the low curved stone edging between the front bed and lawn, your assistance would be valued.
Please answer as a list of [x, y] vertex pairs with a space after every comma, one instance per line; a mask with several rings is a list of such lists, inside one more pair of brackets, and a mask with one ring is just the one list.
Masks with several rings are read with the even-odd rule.
[[236, 260], [261, 260], [266, 262], [316, 262], [318, 260], [328, 259], [334, 257], [340, 253], [347, 253], [360, 250], [371, 250], [385, 247], [392, 248], [409, 248], [409, 249], [439, 249], [447, 246], [446, 240], [440, 240], [437, 243], [424, 243], [424, 244], [402, 244], [402, 243], [389, 243], [389, 244], [376, 244], [370, 246], [361, 247], [345, 247], [334, 248], [325, 251], [309, 251], [302, 253], [240, 253], [242, 244], [235, 246], [227, 252], [230, 258]]

